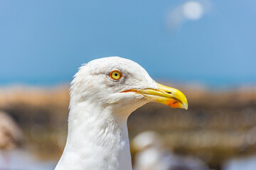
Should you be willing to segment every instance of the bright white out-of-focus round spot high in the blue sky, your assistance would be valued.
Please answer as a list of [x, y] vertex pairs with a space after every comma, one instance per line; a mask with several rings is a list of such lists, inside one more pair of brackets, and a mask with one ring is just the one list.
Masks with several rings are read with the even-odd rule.
[[198, 20], [203, 16], [203, 5], [198, 1], [187, 1], [183, 4], [183, 15], [191, 20]]

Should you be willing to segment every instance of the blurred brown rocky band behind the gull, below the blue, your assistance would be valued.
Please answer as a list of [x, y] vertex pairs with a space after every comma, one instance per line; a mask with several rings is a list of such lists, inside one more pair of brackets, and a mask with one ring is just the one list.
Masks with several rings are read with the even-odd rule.
[[[188, 111], [148, 103], [129, 117], [130, 140], [139, 132], [154, 130], [166, 149], [199, 157], [217, 169], [230, 158], [256, 154], [256, 87], [217, 91], [170, 86], [187, 96]], [[0, 89], [0, 109], [21, 126], [25, 149], [41, 159], [58, 159], [63, 152], [68, 102], [68, 86]]]

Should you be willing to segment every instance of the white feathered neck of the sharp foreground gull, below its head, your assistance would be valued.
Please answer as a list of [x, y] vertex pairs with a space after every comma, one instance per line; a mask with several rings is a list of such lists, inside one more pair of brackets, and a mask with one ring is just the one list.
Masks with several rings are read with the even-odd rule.
[[114, 113], [111, 106], [73, 105], [68, 119], [68, 139], [58, 166], [132, 169], [127, 116], [121, 115]]

